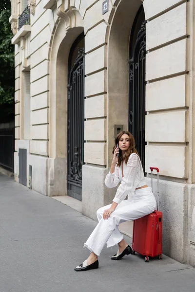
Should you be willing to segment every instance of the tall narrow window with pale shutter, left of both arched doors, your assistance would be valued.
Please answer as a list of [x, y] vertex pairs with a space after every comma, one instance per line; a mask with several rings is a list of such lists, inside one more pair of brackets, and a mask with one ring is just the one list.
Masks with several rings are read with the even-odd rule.
[[30, 72], [24, 72], [24, 140], [30, 139]]

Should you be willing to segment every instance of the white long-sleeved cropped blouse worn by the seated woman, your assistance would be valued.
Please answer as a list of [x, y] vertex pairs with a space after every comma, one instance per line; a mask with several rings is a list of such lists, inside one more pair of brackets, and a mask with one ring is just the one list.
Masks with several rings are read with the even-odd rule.
[[130, 192], [134, 192], [137, 187], [146, 185], [143, 167], [136, 153], [132, 153], [129, 156], [127, 164], [123, 162], [123, 177], [122, 165], [120, 167], [116, 165], [115, 172], [109, 172], [105, 178], [105, 185], [109, 188], [117, 186], [119, 182], [121, 184], [117, 188], [117, 193], [113, 200], [117, 204], [123, 201]]

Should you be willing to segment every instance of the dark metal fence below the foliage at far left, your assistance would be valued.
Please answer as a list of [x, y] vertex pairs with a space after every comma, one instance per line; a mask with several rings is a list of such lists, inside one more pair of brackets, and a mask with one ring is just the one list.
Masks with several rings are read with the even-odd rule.
[[14, 121], [0, 124], [0, 166], [14, 172]]

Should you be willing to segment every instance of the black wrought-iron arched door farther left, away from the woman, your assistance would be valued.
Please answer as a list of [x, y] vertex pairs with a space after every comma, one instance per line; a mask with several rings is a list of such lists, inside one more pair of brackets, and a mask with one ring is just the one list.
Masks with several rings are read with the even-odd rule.
[[81, 201], [84, 163], [84, 33], [68, 60], [67, 195]]

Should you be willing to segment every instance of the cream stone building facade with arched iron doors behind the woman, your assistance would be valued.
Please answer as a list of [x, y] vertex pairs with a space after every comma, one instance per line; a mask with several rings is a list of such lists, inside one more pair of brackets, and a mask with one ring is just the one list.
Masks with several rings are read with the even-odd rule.
[[163, 252], [195, 266], [195, 0], [11, 3], [15, 180], [95, 219], [130, 129], [149, 184], [160, 169]]

